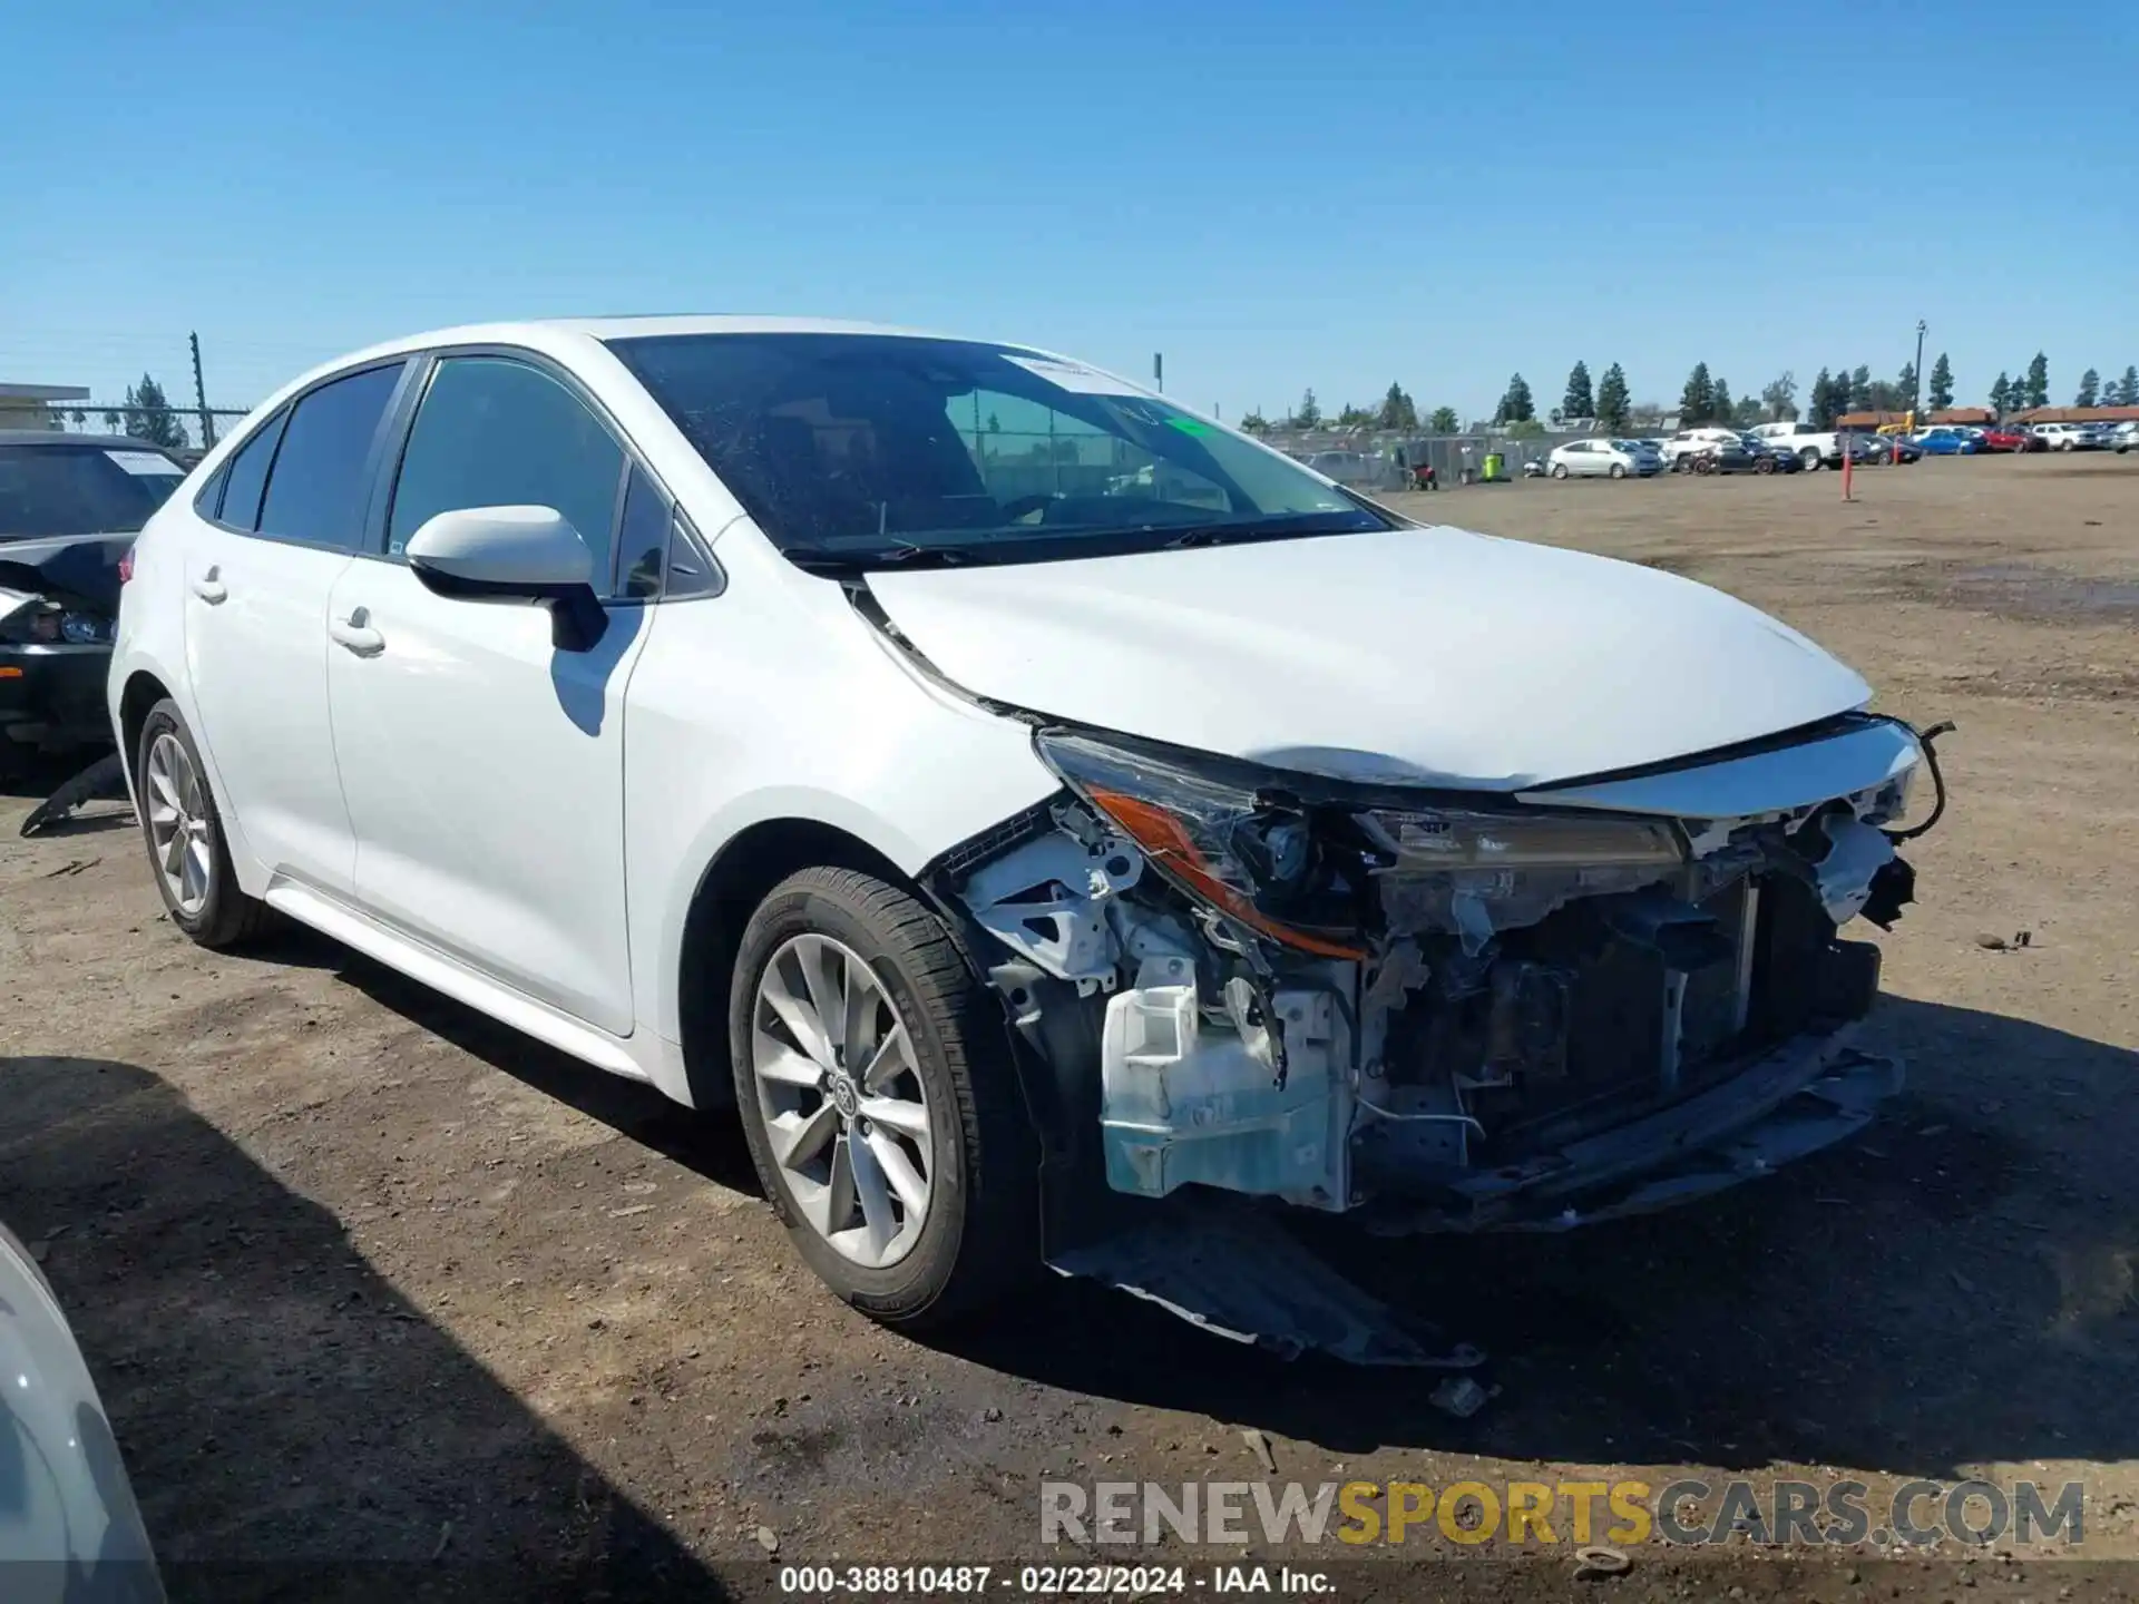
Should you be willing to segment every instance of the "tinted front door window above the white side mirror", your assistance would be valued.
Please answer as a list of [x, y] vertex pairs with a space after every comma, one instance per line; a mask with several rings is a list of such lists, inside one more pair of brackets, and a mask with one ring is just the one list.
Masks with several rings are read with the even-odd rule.
[[447, 357], [402, 453], [387, 552], [458, 507], [554, 507], [610, 573], [610, 520], [625, 449], [550, 374], [507, 357]]

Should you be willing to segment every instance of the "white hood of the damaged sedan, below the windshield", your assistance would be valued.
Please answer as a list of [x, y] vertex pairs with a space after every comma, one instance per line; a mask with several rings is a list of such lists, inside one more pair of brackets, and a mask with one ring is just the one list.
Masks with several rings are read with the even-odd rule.
[[1341, 778], [1514, 791], [1872, 697], [1720, 590], [1459, 528], [879, 571], [868, 588], [967, 691]]

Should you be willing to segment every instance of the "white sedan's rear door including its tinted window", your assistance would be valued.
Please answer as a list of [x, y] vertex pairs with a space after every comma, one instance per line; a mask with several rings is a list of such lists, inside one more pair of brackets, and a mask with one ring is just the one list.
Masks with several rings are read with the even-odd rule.
[[270, 875], [342, 894], [355, 840], [327, 727], [327, 597], [364, 530], [402, 370], [361, 368], [284, 406], [186, 541], [186, 665], [222, 804]]

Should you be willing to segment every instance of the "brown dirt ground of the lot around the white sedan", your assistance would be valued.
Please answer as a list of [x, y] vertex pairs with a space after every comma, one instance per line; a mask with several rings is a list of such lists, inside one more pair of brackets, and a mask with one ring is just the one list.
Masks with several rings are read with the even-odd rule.
[[1724, 586], [1959, 723], [1882, 939], [1895, 1112], [1692, 1213], [1360, 1249], [1489, 1349], [1469, 1420], [1435, 1375], [1281, 1364], [1080, 1283], [922, 1345], [819, 1292], [732, 1125], [321, 939], [201, 954], [122, 806], [24, 843], [0, 798], [0, 1219], [45, 1245], [173, 1591], [764, 1595], [768, 1544], [1059, 1563], [1037, 1482], [1262, 1480], [1253, 1429], [1307, 1482], [2088, 1484], [2077, 1559], [1651, 1544], [1576, 1585], [1566, 1540], [1435, 1538], [1341, 1598], [2130, 1595], [2139, 458], [1932, 460], [1850, 505], [1827, 473], [1403, 500]]

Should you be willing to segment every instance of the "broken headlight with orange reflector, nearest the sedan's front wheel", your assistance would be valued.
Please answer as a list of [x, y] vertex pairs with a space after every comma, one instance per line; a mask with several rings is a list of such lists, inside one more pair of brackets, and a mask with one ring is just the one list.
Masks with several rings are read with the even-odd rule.
[[1040, 731], [1033, 744], [1191, 898], [1301, 952], [1367, 956], [1350, 853], [1333, 853], [1303, 808], [1228, 778], [1221, 759], [1204, 768], [1061, 729]]

